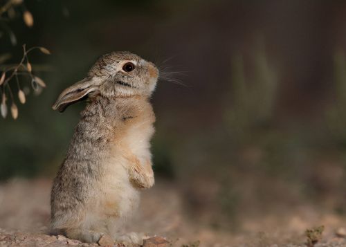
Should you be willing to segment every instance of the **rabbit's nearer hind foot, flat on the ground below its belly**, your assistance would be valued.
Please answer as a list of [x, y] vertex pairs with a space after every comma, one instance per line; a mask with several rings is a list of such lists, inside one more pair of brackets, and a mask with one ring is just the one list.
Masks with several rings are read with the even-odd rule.
[[100, 244], [100, 246], [113, 246], [113, 239], [103, 232], [93, 230], [71, 228], [66, 230], [66, 237], [77, 239], [86, 243]]

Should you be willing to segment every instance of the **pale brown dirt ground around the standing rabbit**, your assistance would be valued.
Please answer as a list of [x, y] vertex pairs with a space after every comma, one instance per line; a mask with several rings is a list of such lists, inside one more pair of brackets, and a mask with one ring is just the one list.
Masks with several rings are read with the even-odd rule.
[[[0, 185], [0, 247], [97, 246], [46, 235], [50, 188], [51, 180], [47, 179], [13, 179]], [[311, 205], [284, 214], [264, 212], [257, 217], [243, 217], [236, 230], [223, 230], [192, 221], [183, 200], [173, 183], [158, 181], [154, 188], [143, 192], [140, 209], [127, 228], [165, 237], [171, 246], [179, 247], [346, 246], [345, 219]], [[315, 226], [324, 226], [324, 230], [322, 235], [310, 232], [309, 243], [305, 231]]]

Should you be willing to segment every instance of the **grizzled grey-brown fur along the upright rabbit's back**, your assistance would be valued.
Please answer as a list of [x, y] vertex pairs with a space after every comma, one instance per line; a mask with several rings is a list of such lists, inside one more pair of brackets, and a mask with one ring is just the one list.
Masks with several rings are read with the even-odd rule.
[[109, 134], [102, 122], [85, 111], [75, 128], [66, 158], [53, 182], [51, 227], [79, 223], [102, 177], [102, 163], [109, 152]]

